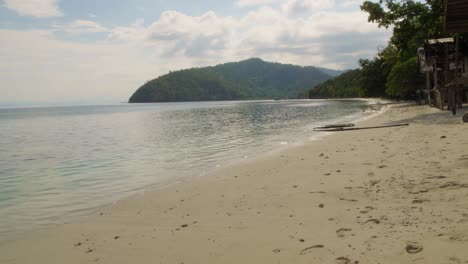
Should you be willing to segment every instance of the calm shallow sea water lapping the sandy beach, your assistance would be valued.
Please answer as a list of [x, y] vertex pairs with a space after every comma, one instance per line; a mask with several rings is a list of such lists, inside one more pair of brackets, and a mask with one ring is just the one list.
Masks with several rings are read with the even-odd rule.
[[0, 240], [316, 138], [362, 100], [0, 108]]

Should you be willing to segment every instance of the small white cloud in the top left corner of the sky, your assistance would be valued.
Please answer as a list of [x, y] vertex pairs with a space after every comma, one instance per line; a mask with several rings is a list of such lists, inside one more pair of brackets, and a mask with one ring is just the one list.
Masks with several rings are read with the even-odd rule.
[[37, 18], [63, 16], [58, 0], [4, 0], [5, 7], [21, 16]]

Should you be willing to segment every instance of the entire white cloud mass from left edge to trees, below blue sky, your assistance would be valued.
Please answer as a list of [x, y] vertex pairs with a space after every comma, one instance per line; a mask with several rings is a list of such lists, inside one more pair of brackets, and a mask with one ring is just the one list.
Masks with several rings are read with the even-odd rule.
[[146, 24], [140, 19], [132, 25], [106, 28], [78, 20], [62, 28], [105, 32], [107, 38], [74, 43], [48, 31], [0, 30], [3, 100], [121, 101], [145, 81], [170, 70], [249, 57], [347, 69], [356, 67], [360, 57], [375, 54], [391, 35], [369, 24], [366, 14], [359, 11], [322, 10], [293, 17], [272, 7], [243, 17], [166, 11]]

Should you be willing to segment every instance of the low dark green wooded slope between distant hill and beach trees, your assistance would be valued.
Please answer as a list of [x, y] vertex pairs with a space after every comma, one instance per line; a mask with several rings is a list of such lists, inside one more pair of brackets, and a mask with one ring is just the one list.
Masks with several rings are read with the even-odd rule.
[[360, 69], [347, 71], [309, 90], [309, 98], [363, 97], [362, 72]]

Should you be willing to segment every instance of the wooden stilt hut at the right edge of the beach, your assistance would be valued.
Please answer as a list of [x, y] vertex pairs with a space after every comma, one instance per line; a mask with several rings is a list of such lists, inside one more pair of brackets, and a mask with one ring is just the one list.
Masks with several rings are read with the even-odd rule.
[[468, 100], [468, 1], [446, 0], [445, 31], [454, 37], [430, 39], [418, 49], [421, 73], [426, 75], [428, 104], [453, 114]]

